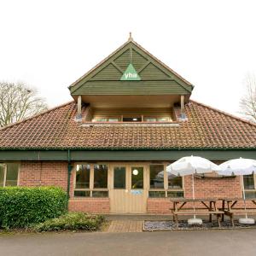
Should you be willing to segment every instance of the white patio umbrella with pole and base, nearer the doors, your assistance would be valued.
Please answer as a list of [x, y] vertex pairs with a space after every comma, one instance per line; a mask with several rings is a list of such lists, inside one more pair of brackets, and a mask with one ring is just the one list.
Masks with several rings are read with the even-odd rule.
[[[170, 166], [167, 166], [166, 171], [170, 172], [176, 176], [186, 176], [192, 175], [192, 193], [193, 200], [195, 200], [195, 185], [194, 185], [194, 174], [203, 174], [208, 172], [217, 172], [219, 171], [218, 165], [215, 165], [210, 160], [202, 158], [200, 156], [185, 156], [180, 160], [172, 163]], [[194, 201], [194, 212], [195, 212], [195, 201]], [[202, 224], [201, 218], [190, 218], [188, 220], [189, 224]]]

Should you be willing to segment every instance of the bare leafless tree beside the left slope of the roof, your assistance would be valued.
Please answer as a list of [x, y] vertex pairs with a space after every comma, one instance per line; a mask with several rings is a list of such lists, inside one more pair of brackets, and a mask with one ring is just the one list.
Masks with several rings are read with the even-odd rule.
[[25, 119], [47, 109], [37, 90], [24, 83], [0, 82], [0, 127]]

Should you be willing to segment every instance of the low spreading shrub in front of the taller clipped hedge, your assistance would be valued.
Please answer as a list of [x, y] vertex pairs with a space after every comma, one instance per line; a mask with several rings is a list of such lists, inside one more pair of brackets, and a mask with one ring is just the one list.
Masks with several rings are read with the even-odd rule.
[[36, 231], [57, 230], [98, 230], [104, 221], [102, 215], [90, 215], [84, 212], [70, 212], [59, 218], [46, 220], [34, 226]]

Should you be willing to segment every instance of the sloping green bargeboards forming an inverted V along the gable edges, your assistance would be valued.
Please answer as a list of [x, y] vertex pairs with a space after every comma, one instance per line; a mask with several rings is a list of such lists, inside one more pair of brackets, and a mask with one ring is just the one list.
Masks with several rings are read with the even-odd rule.
[[133, 42], [129, 42], [123, 45], [119, 50], [114, 52], [112, 55], [109, 56], [106, 61], [103, 61], [99, 67], [96, 67], [92, 72], [88, 73], [83, 79], [80, 79], [77, 84], [74, 84], [73, 86], [69, 87], [71, 95], [77, 95], [75, 94], [75, 91], [79, 89], [79, 87], [83, 86], [87, 81], [89, 81], [91, 78], [93, 78], [96, 73], [99, 73], [102, 71], [103, 68], [107, 67], [111, 62], [114, 61], [119, 55], [122, 55], [125, 53], [127, 49], [134, 49], [136, 50], [140, 55], [143, 55], [148, 61], [152, 62], [156, 67], [159, 67], [160, 70], [162, 70], [166, 75], [170, 76], [171, 79], [175, 79], [178, 84], [183, 86], [185, 90], [187, 90], [188, 93], [191, 93], [194, 86], [186, 84], [182, 79], [178, 78], [174, 73], [171, 73], [166, 67], [162, 66], [158, 61], [155, 61], [154, 58], [152, 58], [150, 55], [146, 54], [142, 49], [139, 49], [136, 44], [133, 44]]

